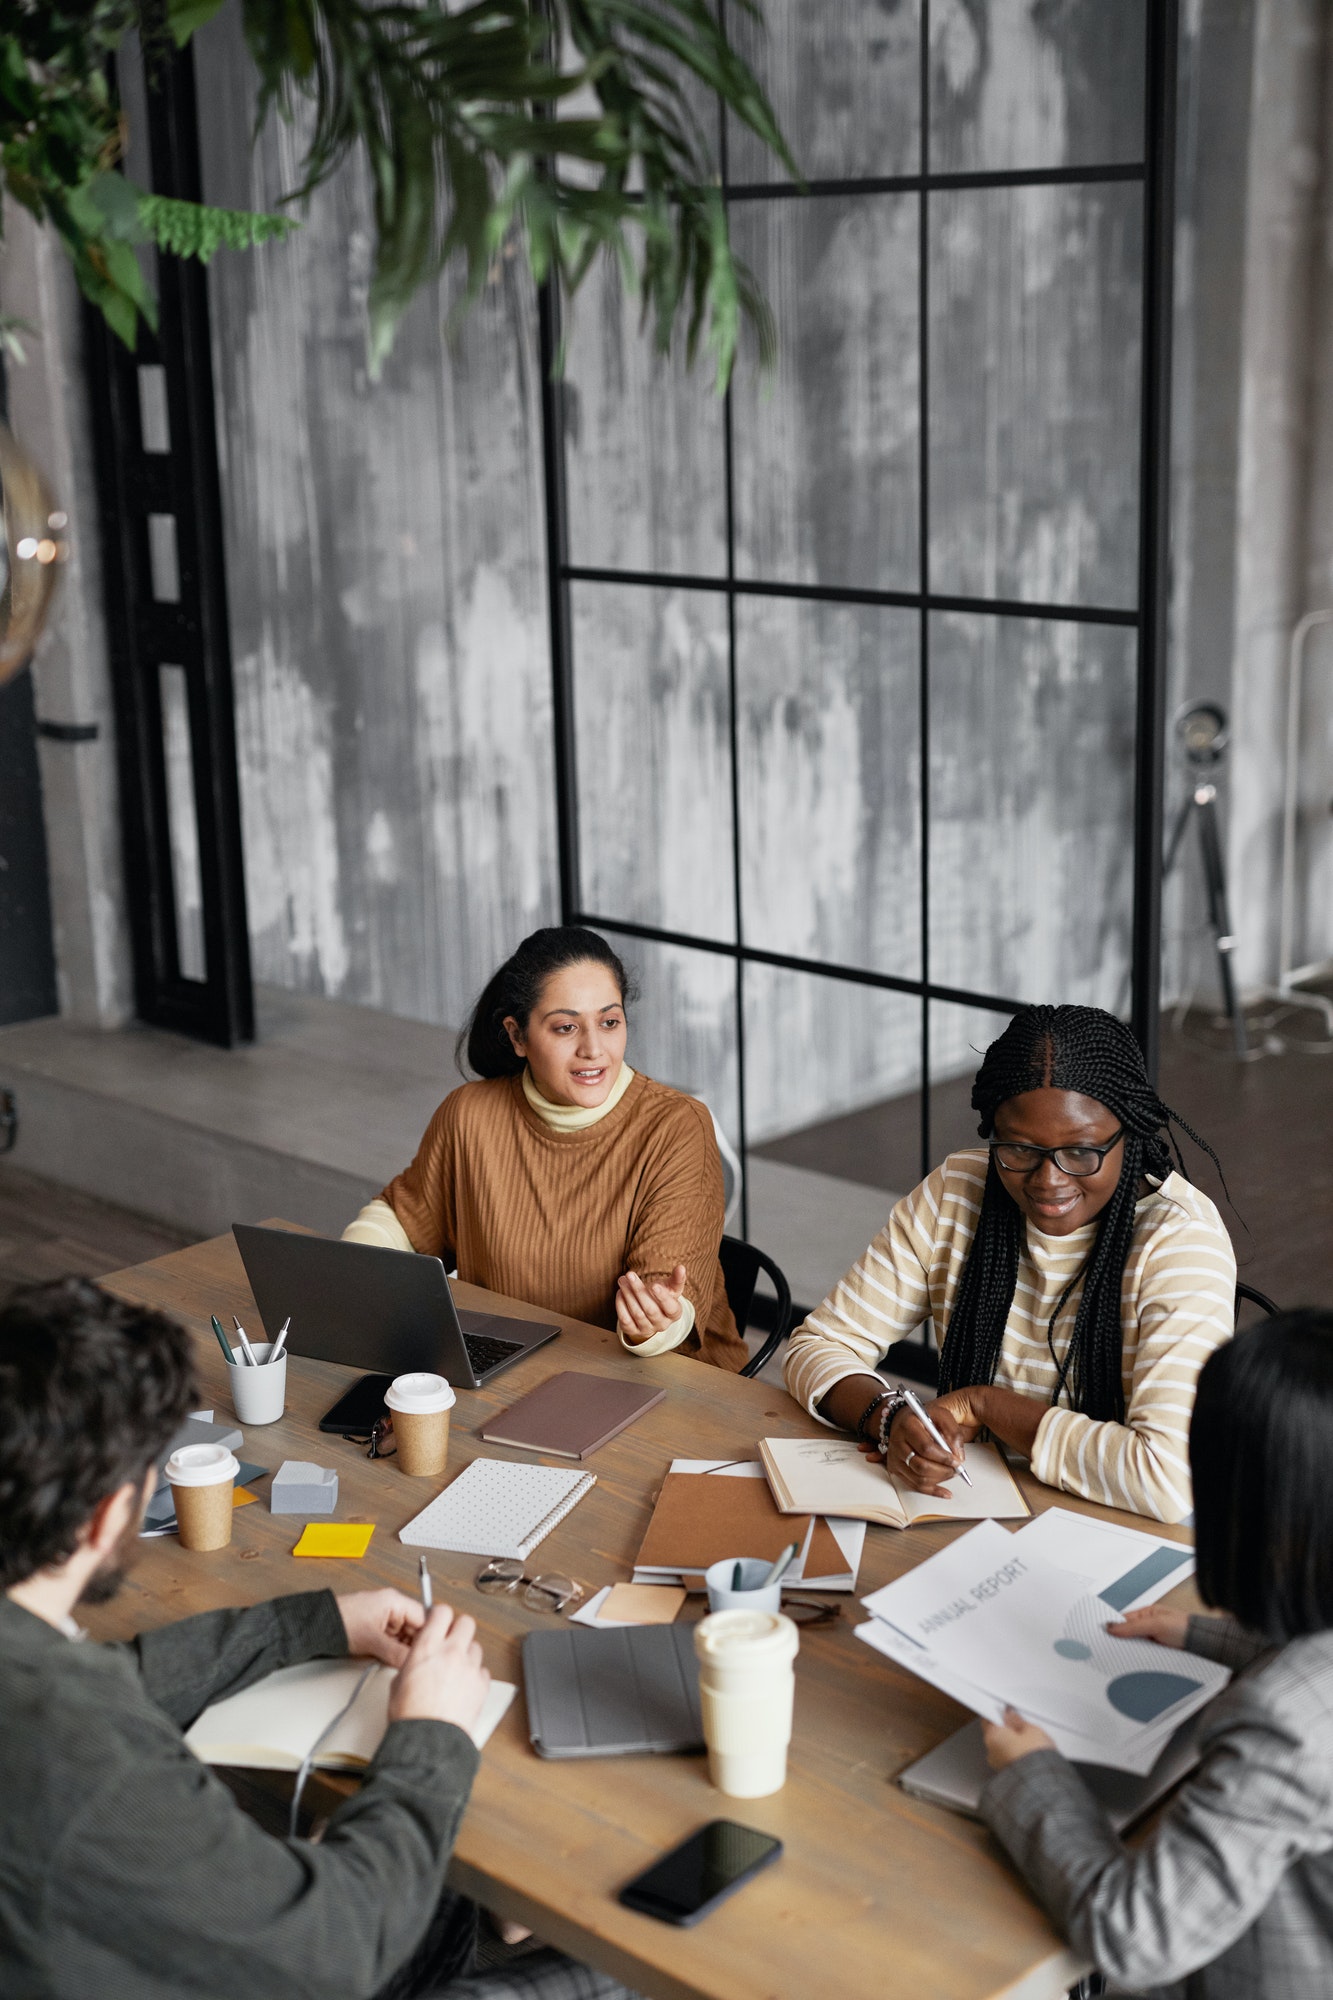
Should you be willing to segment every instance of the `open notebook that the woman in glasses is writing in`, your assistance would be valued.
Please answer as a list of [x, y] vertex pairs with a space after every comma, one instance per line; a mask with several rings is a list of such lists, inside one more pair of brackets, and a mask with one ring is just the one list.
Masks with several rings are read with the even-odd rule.
[[965, 1444], [973, 1484], [949, 1480], [949, 1500], [933, 1500], [885, 1478], [847, 1438], [761, 1438], [773, 1498], [781, 1514], [845, 1514], [885, 1528], [919, 1520], [1019, 1520], [1029, 1512], [1015, 1476], [993, 1444]]

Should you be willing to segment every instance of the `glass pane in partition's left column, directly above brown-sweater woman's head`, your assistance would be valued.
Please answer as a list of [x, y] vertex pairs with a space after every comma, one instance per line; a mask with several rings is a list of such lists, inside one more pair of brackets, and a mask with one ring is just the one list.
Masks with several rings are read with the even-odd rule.
[[574, 584], [582, 902], [735, 942], [727, 600]]

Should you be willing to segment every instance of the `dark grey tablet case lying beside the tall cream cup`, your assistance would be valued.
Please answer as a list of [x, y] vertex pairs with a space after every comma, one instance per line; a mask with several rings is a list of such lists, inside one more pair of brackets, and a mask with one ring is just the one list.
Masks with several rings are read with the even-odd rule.
[[538, 1756], [642, 1756], [705, 1746], [693, 1624], [528, 1632], [522, 1688]]

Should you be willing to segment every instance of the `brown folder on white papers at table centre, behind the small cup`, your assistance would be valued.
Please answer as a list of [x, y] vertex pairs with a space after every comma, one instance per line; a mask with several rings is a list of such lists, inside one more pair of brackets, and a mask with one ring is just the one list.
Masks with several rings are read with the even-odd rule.
[[673, 1458], [638, 1548], [634, 1582], [701, 1590], [709, 1564], [727, 1556], [773, 1562], [789, 1542], [797, 1542], [799, 1550], [785, 1588], [857, 1588], [863, 1520], [821, 1514], [783, 1518], [761, 1464], [745, 1458]]

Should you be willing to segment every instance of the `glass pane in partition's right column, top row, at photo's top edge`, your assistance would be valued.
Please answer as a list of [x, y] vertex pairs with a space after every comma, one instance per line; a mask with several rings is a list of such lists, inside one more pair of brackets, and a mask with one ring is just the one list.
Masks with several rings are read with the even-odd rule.
[[1143, 0], [933, 0], [931, 168], [1143, 160]]

